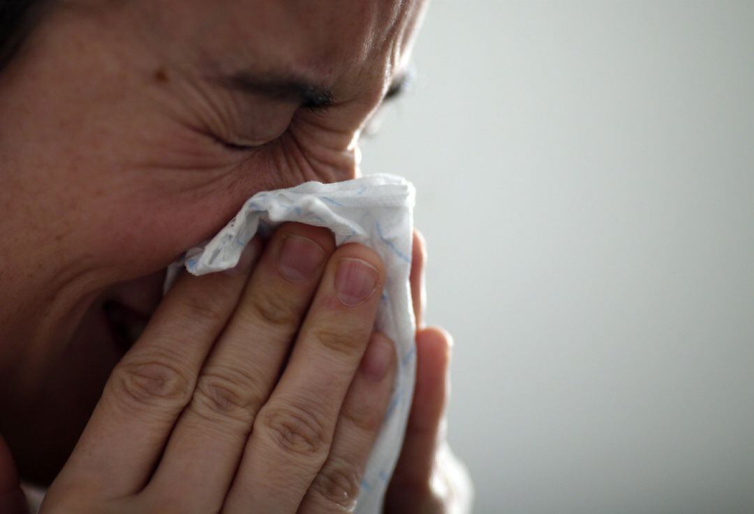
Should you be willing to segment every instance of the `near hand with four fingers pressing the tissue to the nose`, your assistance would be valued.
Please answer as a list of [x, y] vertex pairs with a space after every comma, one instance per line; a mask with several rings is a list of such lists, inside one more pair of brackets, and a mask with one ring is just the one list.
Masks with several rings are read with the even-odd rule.
[[242, 259], [178, 279], [42, 512], [353, 506], [394, 382], [393, 345], [372, 333], [382, 263], [296, 223]]

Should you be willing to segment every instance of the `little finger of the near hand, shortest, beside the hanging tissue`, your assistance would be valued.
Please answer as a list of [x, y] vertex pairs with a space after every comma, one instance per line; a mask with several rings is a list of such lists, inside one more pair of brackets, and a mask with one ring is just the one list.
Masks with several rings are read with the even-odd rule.
[[312, 482], [299, 514], [351, 512], [395, 377], [395, 346], [372, 334], [359, 371], [343, 402], [329, 457]]

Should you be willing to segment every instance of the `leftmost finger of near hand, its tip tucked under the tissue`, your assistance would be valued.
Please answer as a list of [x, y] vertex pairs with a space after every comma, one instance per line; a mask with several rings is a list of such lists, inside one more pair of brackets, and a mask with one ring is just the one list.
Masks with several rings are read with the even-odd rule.
[[116, 497], [145, 485], [259, 249], [251, 242], [229, 272], [179, 277], [110, 375], [55, 486]]

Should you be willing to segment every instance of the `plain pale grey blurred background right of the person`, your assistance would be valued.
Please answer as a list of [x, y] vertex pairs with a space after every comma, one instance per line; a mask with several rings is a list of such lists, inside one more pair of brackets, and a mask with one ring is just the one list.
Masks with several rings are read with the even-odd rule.
[[476, 512], [754, 512], [754, 2], [434, 0], [418, 189]]

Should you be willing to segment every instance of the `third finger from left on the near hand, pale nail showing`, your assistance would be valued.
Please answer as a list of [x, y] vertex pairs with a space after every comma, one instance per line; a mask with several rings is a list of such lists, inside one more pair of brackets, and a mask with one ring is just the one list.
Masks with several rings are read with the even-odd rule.
[[385, 270], [344, 245], [327, 264], [280, 383], [247, 443], [228, 512], [295, 512], [329, 452], [345, 393], [372, 334]]

